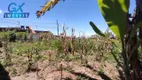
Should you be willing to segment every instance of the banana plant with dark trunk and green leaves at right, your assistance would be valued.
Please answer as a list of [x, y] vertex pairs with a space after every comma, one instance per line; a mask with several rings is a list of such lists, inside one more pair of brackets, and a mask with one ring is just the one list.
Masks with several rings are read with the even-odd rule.
[[[142, 44], [141, 4], [141, 0], [136, 0], [136, 14], [130, 21], [131, 16], [128, 16], [130, 0], [98, 0], [100, 11], [108, 27], [122, 42], [121, 54], [125, 80], [142, 80], [140, 75], [142, 65], [138, 59], [138, 48]], [[90, 22], [90, 25], [97, 34], [104, 36], [93, 22]], [[140, 37], [137, 35], [138, 31]]]

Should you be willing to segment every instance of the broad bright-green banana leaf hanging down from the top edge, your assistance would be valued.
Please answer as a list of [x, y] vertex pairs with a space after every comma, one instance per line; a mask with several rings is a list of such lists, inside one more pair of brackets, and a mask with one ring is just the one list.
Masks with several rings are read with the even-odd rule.
[[117, 37], [124, 38], [127, 27], [129, 0], [98, 0], [99, 8], [109, 26]]

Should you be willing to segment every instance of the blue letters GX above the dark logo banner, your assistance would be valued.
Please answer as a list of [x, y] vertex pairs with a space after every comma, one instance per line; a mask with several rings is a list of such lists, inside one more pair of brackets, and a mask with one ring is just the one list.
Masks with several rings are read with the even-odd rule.
[[21, 4], [21, 5], [17, 5], [16, 3], [11, 3], [9, 6], [8, 6], [8, 11], [9, 12], [23, 12], [22, 10], [22, 6], [24, 5], [25, 3]]

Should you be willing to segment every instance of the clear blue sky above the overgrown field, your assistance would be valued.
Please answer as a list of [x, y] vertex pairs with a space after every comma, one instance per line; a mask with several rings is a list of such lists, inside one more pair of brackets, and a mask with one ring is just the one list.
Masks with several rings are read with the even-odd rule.
[[[75, 35], [85, 34], [91, 36], [95, 34], [89, 25], [93, 21], [101, 30], [107, 29], [107, 24], [100, 12], [97, 0], [65, 0], [59, 3], [50, 11], [46, 12], [40, 18], [36, 17], [36, 11], [41, 10], [48, 0], [2, 0], [0, 2], [0, 27], [6, 26], [32, 26], [37, 30], [50, 30], [57, 34], [57, 20], [62, 32], [62, 26], [65, 25], [67, 34], [71, 35], [71, 28], [75, 29]], [[130, 13], [135, 8], [135, 0], [130, 0]], [[8, 5], [15, 2], [18, 5], [25, 3], [22, 7], [23, 12], [29, 12], [29, 18], [3, 18], [4, 13], [8, 12]]]

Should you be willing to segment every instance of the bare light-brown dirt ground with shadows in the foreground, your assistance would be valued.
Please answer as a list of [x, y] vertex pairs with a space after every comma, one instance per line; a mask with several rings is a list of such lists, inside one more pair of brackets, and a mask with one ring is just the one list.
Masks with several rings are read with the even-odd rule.
[[[107, 61], [103, 65], [99, 62], [80, 65], [78, 62], [67, 61], [52, 64], [44, 60], [36, 65], [37, 70], [10, 76], [11, 80], [121, 80], [117, 68]], [[103, 67], [103, 73], [100, 67]]]

